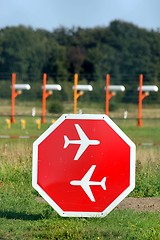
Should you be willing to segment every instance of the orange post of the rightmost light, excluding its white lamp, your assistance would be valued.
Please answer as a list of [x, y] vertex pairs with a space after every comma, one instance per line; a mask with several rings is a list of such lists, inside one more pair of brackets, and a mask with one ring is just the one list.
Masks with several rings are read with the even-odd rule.
[[148, 92], [143, 93], [142, 92], [142, 86], [143, 86], [143, 74], [140, 74], [139, 76], [139, 96], [138, 96], [138, 120], [137, 125], [139, 127], [142, 127], [142, 101], [145, 97], [149, 95]]

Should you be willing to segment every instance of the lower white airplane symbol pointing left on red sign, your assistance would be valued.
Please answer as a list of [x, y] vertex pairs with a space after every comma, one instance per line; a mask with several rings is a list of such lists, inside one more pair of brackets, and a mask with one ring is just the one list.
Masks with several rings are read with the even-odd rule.
[[100, 182], [90, 181], [95, 167], [96, 165], [92, 165], [81, 180], [73, 180], [70, 182], [71, 185], [81, 186], [92, 202], [95, 202], [95, 198], [93, 196], [90, 186], [101, 186], [103, 190], [106, 190], [106, 177], [104, 177]]

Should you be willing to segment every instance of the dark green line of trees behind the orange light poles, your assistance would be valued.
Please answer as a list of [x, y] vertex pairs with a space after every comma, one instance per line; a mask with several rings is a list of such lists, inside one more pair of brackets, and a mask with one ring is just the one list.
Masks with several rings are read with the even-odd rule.
[[140, 73], [145, 84], [159, 85], [160, 32], [123, 21], [107, 27], [59, 27], [52, 32], [6, 27], [0, 29], [0, 81], [10, 80], [12, 72], [33, 83], [46, 72], [54, 82], [65, 84], [79, 73], [80, 80], [101, 87], [109, 73], [112, 84], [128, 86], [125, 101]]

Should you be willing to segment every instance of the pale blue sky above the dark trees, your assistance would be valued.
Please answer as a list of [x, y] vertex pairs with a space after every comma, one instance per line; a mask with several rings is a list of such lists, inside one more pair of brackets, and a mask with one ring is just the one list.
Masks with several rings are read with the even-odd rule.
[[52, 31], [108, 26], [115, 19], [157, 30], [160, 0], [0, 0], [0, 28], [23, 24]]

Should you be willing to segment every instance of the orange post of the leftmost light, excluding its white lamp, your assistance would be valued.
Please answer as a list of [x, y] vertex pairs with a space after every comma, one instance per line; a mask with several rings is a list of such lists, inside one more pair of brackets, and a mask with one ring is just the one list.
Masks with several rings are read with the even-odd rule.
[[12, 73], [12, 94], [11, 94], [11, 123], [15, 123], [15, 99], [21, 94], [21, 91], [16, 91], [16, 73]]

